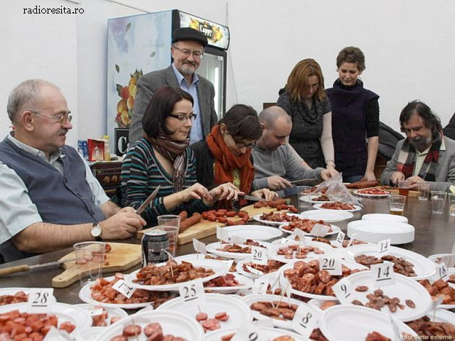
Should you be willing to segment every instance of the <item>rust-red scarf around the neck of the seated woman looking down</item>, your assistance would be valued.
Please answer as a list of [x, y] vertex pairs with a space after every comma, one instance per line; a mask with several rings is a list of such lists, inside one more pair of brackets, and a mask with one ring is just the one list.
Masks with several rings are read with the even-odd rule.
[[[213, 127], [206, 141], [210, 153], [215, 159], [214, 184], [234, 183], [233, 171], [239, 169], [240, 190], [245, 194], [250, 194], [253, 180], [255, 180], [255, 167], [251, 162], [250, 149], [247, 149], [245, 154], [234, 156], [225, 144], [219, 125]], [[240, 204], [242, 205], [242, 202]]]

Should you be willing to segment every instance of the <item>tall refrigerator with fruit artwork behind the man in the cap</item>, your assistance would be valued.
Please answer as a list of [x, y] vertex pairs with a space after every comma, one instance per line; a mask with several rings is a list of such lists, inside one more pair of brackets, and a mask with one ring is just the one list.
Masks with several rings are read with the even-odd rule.
[[226, 107], [227, 26], [176, 9], [107, 21], [107, 135], [111, 150], [122, 156], [128, 147], [128, 128], [142, 75], [171, 65], [172, 33], [191, 27], [208, 38], [196, 73], [215, 87], [215, 109], [223, 117]]

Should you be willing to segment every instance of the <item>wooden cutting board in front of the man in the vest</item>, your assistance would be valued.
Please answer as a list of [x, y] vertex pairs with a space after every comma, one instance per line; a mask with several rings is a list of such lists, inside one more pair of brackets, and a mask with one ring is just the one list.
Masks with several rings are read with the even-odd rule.
[[[124, 271], [139, 264], [142, 261], [141, 244], [124, 244], [124, 243], [109, 243], [112, 247], [111, 251], [106, 254], [105, 265], [103, 269], [105, 272]], [[65, 259], [76, 258], [75, 252], [70, 252], [63, 256], [60, 261]], [[69, 261], [63, 264], [62, 274], [55, 276], [52, 279], [52, 286], [54, 288], [66, 288], [75, 281], [79, 281], [79, 274], [87, 274], [88, 271], [79, 269], [75, 261]]]

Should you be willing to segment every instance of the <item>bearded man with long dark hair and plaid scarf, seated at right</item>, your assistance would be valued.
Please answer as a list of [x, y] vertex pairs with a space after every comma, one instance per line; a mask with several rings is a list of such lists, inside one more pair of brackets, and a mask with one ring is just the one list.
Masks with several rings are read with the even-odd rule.
[[402, 109], [400, 126], [407, 138], [398, 142], [381, 175], [383, 185], [409, 180], [411, 188], [429, 181], [431, 190], [449, 192], [455, 185], [455, 141], [442, 134], [441, 121], [431, 109], [412, 101]]

